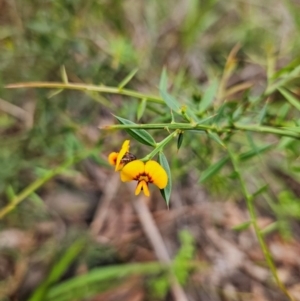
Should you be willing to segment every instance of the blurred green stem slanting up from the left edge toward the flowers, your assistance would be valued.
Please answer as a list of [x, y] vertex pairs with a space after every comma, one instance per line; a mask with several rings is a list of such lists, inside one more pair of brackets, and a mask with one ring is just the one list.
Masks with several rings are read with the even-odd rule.
[[7, 204], [4, 208], [0, 210], [0, 219], [2, 219], [5, 215], [11, 212], [17, 205], [19, 205], [25, 198], [31, 195], [34, 191], [44, 185], [46, 182], [51, 180], [58, 174], [61, 174], [65, 169], [74, 165], [75, 163], [85, 159], [86, 157], [90, 156], [95, 150], [93, 151], [85, 151], [84, 153], [74, 156], [71, 159], [66, 160], [60, 166], [50, 170], [47, 172], [42, 178], [35, 180], [29, 186], [27, 186], [23, 191], [21, 191], [18, 195], [16, 195], [9, 204]]

